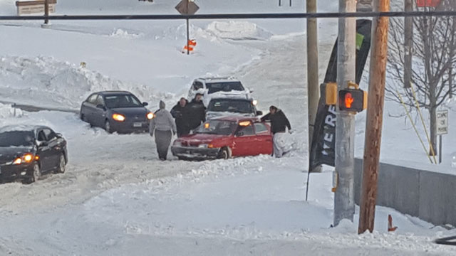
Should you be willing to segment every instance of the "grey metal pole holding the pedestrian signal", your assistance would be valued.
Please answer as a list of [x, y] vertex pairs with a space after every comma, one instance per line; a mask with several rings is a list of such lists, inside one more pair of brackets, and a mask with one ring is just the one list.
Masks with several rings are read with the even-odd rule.
[[[356, 12], [356, 0], [339, 0], [339, 12]], [[356, 81], [356, 19], [338, 19], [337, 90]], [[342, 102], [338, 102], [338, 105]], [[337, 105], [337, 106], [338, 106]], [[353, 221], [355, 214], [354, 166], [355, 166], [355, 114], [337, 109], [336, 120], [336, 174], [334, 195], [334, 225], [341, 220]]]

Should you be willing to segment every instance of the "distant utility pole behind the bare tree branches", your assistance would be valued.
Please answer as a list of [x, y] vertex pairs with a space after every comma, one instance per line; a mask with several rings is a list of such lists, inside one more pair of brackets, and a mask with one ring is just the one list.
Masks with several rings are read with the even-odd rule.
[[[413, 11], [413, 1], [405, 0], [405, 11]], [[405, 17], [404, 52], [404, 87], [410, 88], [412, 82], [413, 17]]]

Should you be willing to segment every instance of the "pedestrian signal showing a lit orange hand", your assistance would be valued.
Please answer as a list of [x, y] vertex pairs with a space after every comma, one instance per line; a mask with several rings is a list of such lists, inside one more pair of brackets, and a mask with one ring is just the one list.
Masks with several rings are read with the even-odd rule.
[[339, 110], [361, 112], [367, 107], [367, 93], [360, 89], [339, 91]]

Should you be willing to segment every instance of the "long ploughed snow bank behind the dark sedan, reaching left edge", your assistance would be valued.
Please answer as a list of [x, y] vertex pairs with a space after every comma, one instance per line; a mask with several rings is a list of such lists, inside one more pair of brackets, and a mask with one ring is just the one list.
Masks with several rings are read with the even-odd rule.
[[172, 95], [145, 85], [113, 80], [98, 72], [53, 58], [0, 58], [0, 95], [10, 102], [40, 107], [78, 109], [92, 92], [128, 90], [140, 100], [158, 102]]

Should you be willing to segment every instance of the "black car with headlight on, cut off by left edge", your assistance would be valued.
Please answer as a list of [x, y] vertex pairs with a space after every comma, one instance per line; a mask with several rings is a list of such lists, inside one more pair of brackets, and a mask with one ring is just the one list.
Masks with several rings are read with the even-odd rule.
[[0, 182], [37, 181], [41, 174], [64, 173], [66, 140], [45, 126], [0, 128]]

